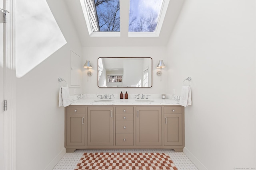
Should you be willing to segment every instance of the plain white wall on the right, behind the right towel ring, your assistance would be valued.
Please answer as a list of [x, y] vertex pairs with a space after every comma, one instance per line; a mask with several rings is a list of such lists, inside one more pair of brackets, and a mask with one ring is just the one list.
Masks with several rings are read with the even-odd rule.
[[185, 149], [200, 170], [255, 168], [255, 0], [186, 0], [167, 45], [168, 88], [185, 109]]

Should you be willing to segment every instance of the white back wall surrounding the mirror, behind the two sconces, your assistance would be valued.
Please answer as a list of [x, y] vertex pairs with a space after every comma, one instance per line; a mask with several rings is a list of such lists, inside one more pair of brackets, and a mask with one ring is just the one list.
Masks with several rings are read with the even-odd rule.
[[[152, 88], [99, 88], [97, 85], [97, 65], [99, 57], [151, 57], [152, 58]], [[162, 69], [162, 82], [156, 75], [159, 60], [166, 60], [166, 47], [84, 47], [83, 63], [90, 60], [92, 76], [87, 82], [87, 69], [83, 70], [83, 93], [87, 94], [119, 94], [121, 91], [128, 94], [165, 94], [167, 84], [166, 69]], [[168, 67], [168, 64], [166, 65]]]

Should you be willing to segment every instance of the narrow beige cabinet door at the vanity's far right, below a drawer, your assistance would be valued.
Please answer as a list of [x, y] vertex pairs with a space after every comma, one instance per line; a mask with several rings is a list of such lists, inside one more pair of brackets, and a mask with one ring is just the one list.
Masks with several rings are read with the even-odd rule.
[[182, 114], [164, 114], [164, 145], [182, 145]]

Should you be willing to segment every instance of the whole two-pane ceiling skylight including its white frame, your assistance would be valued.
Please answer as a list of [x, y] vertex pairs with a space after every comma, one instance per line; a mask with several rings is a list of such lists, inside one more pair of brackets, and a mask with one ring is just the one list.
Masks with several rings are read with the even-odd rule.
[[169, 1], [80, 0], [91, 37], [157, 37]]

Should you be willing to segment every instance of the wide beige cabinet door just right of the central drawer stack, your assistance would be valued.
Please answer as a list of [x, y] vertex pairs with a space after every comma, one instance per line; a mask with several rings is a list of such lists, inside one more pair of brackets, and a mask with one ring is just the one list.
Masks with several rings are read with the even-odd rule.
[[136, 107], [136, 145], [162, 145], [161, 107]]

